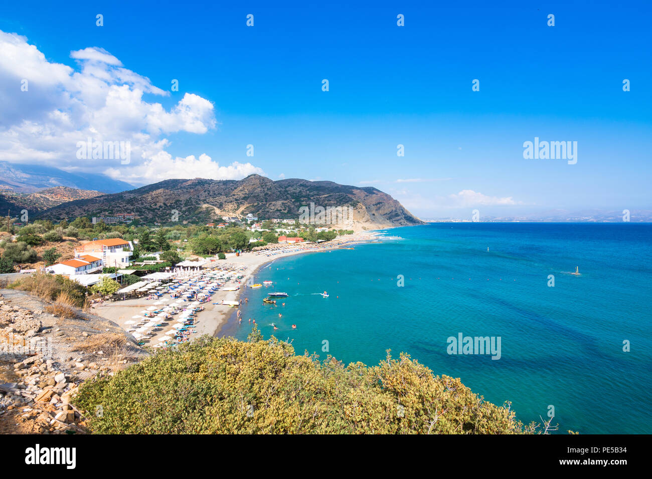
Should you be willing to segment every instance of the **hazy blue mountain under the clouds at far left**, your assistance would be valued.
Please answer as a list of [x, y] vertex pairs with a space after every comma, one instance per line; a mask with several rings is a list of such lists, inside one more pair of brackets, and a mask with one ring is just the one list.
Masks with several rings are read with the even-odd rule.
[[102, 193], [117, 193], [134, 188], [124, 181], [117, 181], [100, 173], [68, 173], [49, 166], [0, 162], [0, 190], [33, 193], [53, 186], [68, 186]]

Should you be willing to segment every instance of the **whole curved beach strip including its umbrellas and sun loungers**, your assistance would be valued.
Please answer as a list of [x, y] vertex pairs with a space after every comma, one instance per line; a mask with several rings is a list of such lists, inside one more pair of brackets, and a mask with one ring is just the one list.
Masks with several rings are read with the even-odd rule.
[[235, 309], [223, 302], [238, 304], [247, 280], [261, 266], [280, 257], [332, 250], [380, 236], [377, 231], [364, 231], [323, 243], [274, 244], [265, 250], [226, 254], [226, 259], [213, 259], [201, 269], [176, 271], [170, 283], [152, 289], [158, 297], [104, 302], [93, 313], [114, 321], [145, 346], [166, 347], [202, 334], [216, 336]]

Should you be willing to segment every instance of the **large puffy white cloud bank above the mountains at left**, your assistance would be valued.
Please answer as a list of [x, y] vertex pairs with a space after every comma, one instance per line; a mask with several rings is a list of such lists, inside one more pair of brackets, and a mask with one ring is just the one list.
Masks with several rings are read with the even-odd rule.
[[[215, 108], [206, 98], [186, 93], [166, 108], [143, 95], [166, 97], [169, 91], [128, 70], [108, 51], [89, 47], [71, 51], [70, 57], [77, 68], [51, 63], [24, 36], [0, 31], [0, 158], [67, 171], [106, 170], [132, 184], [262, 172], [249, 163], [220, 166], [206, 154], [173, 158], [166, 151], [166, 135], [216, 128]], [[27, 91], [21, 89], [23, 80]], [[87, 138], [129, 141], [130, 164], [78, 160], [76, 145]]]

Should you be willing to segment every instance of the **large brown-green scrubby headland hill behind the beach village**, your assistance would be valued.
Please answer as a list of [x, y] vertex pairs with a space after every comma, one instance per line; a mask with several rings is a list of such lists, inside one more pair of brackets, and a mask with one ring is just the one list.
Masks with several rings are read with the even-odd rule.
[[224, 216], [298, 219], [301, 207], [349, 207], [349, 229], [377, 229], [422, 224], [398, 201], [371, 186], [360, 188], [331, 181], [284, 179], [260, 175], [235, 180], [173, 179], [135, 190], [63, 203], [40, 214], [59, 220], [102, 212], [134, 213], [143, 222], [205, 222]]

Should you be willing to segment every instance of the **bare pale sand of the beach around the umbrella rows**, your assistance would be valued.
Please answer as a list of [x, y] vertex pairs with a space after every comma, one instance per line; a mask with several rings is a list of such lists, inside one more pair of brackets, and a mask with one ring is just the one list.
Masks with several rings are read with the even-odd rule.
[[[235, 253], [226, 254], [226, 259], [214, 260], [210, 263], [203, 265], [201, 271], [211, 271], [215, 269], [230, 270], [237, 272], [241, 278], [231, 280], [226, 283], [225, 287], [239, 287], [236, 291], [216, 291], [211, 295], [211, 300], [203, 302], [204, 310], [196, 315], [194, 321], [196, 336], [199, 337], [203, 334], [210, 336], [217, 336], [220, 328], [226, 324], [231, 315], [235, 314], [237, 308], [227, 306], [220, 303], [222, 301], [239, 301], [249, 278], [252, 278], [256, 272], [263, 267], [272, 263], [276, 259], [297, 255], [302, 253], [320, 252], [325, 250], [333, 250], [336, 248], [346, 247], [350, 244], [368, 242], [377, 239], [381, 233], [378, 231], [363, 231], [338, 237], [337, 239], [321, 244], [309, 243], [296, 243], [296, 244], [274, 244], [270, 245], [267, 250], [259, 250], [256, 252], [243, 253], [235, 255]], [[176, 298], [171, 298], [169, 294], [163, 295], [160, 298], [147, 299], [147, 296], [140, 298], [132, 298], [127, 300], [108, 301], [103, 304], [98, 304], [93, 307], [93, 313], [106, 317], [111, 321], [117, 323], [125, 330], [133, 330], [136, 323], [143, 317], [143, 312], [152, 306], [163, 308], [164, 306], [174, 304]], [[188, 305], [190, 302], [188, 302]], [[185, 304], [182, 303], [182, 306]], [[175, 319], [170, 319], [163, 323], [162, 327], [155, 328], [151, 332], [151, 338], [148, 338], [145, 345], [155, 345], [160, 343], [161, 338], [166, 337], [166, 331], [170, 329]]]

